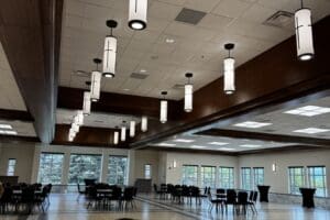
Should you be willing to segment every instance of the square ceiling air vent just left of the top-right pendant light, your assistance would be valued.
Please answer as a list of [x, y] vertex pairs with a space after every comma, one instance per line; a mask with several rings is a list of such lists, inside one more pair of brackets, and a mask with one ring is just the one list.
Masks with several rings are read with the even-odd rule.
[[277, 26], [277, 28], [288, 28], [293, 26], [294, 14], [287, 11], [277, 11], [266, 21], [263, 22], [265, 25]]

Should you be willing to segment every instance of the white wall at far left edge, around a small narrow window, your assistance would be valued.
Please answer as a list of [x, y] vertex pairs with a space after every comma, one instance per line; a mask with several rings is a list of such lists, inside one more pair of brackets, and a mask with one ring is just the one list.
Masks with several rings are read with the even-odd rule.
[[0, 175], [7, 175], [8, 160], [15, 158], [15, 176], [19, 182], [31, 183], [33, 167], [33, 143], [1, 143], [0, 145]]

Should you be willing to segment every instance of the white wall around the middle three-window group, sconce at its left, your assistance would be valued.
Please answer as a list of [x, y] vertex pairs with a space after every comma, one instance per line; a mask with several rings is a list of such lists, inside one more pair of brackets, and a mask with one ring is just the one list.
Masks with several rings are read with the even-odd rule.
[[[230, 166], [234, 167], [235, 184], [238, 183], [238, 165], [239, 161], [237, 156], [224, 156], [224, 155], [212, 155], [212, 154], [189, 154], [189, 153], [167, 153], [166, 158], [166, 183], [167, 184], [182, 184], [183, 165], [201, 165], [207, 166]], [[176, 161], [176, 168], [168, 168]], [[218, 169], [218, 168], [217, 168]], [[200, 170], [200, 169], [199, 169]], [[199, 172], [199, 183], [200, 183], [200, 172]], [[218, 172], [216, 172], [216, 185], [218, 185]]]

